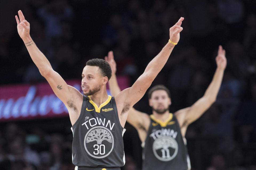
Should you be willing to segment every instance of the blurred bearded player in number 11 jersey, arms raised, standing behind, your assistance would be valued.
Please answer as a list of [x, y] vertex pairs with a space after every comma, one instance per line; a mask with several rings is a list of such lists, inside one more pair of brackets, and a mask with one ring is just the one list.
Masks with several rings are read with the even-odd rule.
[[[108, 53], [105, 60], [112, 69], [112, 79], [109, 80], [110, 92], [113, 96], [119, 95], [120, 88], [115, 77], [116, 63], [112, 51]], [[157, 85], [148, 92], [149, 105], [152, 107], [153, 114], [149, 116], [134, 108], [129, 110], [127, 122], [137, 129], [144, 147], [143, 170], [191, 169], [185, 139], [186, 130], [216, 100], [227, 64], [222, 46], [219, 46], [216, 63], [217, 69], [204, 96], [191, 107], [181, 109], [174, 114], [169, 113], [170, 91], [163, 85]]]

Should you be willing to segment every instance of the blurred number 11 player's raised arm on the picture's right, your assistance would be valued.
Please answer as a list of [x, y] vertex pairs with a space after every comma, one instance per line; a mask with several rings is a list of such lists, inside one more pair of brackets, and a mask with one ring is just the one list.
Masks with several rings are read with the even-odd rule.
[[227, 65], [225, 50], [222, 49], [221, 45], [219, 46], [218, 56], [215, 60], [217, 69], [203, 97], [197, 100], [191, 107], [181, 109], [175, 113], [183, 136], [185, 136], [187, 126], [197, 120], [216, 100]]

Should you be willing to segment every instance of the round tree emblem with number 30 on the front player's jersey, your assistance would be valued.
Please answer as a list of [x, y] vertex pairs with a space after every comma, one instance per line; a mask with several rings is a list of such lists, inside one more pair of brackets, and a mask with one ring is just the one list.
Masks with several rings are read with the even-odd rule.
[[84, 146], [93, 158], [105, 158], [114, 148], [114, 138], [106, 127], [95, 126], [86, 133]]

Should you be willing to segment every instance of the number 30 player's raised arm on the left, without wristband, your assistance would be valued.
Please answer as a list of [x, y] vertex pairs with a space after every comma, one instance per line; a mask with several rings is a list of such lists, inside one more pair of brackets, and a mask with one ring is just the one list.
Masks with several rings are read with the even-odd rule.
[[37, 48], [34, 41], [30, 37], [30, 24], [25, 20], [21, 10], [18, 11], [19, 18], [16, 15], [17, 30], [19, 36], [26, 45], [29, 55], [41, 75], [46, 78], [55, 95], [66, 105], [69, 114], [71, 124], [73, 125], [80, 114], [82, 107], [83, 95], [74, 87], [67, 85], [62, 77], [53, 70], [50, 62], [43, 55], [43, 53]]

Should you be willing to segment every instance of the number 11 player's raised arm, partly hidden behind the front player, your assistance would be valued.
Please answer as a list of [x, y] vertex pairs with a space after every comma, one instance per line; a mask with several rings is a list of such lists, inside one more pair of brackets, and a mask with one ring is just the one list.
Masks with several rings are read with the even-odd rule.
[[[112, 70], [111, 79], [109, 79], [108, 81], [109, 89], [110, 89], [111, 95], [116, 96], [118, 93], [121, 92], [121, 90], [118, 86], [117, 77], [115, 75], [117, 68], [116, 68], [116, 62], [114, 60], [114, 55], [112, 51], [108, 53], [108, 56], [105, 57], [105, 60], [109, 63]], [[148, 128], [150, 125], [149, 115], [143, 112], [139, 112], [132, 107], [129, 110], [127, 122], [131, 124], [135, 129], [137, 129], [141, 141], [145, 141], [146, 140], [145, 132], [148, 131]]]

